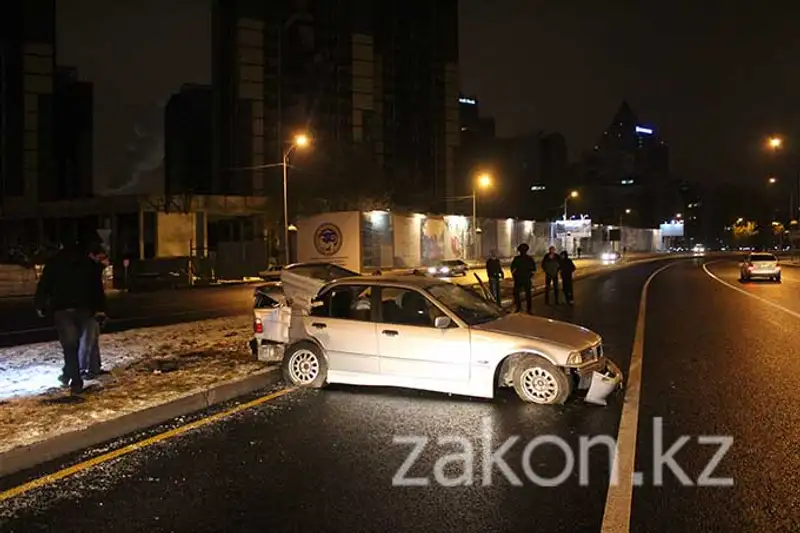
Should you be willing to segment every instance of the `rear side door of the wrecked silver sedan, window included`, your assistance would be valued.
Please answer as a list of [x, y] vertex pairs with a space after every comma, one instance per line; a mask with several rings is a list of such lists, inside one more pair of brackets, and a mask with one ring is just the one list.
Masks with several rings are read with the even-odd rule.
[[372, 314], [376, 296], [367, 284], [335, 285], [311, 309], [306, 329], [325, 349], [329, 373], [379, 373]]

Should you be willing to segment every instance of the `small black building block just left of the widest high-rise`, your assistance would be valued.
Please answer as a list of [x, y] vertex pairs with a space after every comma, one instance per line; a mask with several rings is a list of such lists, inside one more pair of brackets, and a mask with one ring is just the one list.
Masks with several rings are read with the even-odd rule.
[[164, 193], [211, 194], [213, 91], [186, 84], [167, 102], [164, 115]]

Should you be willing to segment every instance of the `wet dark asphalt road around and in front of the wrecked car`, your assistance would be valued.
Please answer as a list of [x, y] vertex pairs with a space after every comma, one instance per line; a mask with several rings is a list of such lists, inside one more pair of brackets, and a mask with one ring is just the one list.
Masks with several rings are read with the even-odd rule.
[[[628, 502], [629, 530], [798, 531], [800, 269], [787, 267], [781, 285], [742, 286], [735, 263], [709, 262], [717, 280], [702, 268], [706, 261], [673, 262], [649, 288], [634, 440], [643, 483]], [[643, 284], [667, 263], [581, 280], [574, 307], [547, 307], [540, 296], [535, 312], [598, 331], [606, 353], [627, 369]], [[586, 458], [579, 442], [616, 438], [622, 407], [621, 394], [607, 407], [581, 400], [545, 407], [510, 393], [488, 401], [398, 389], [295, 391], [2, 502], [0, 530], [600, 531], [609, 454], [599, 446]], [[662, 439], [653, 436], [657, 417]], [[504, 458], [522, 486], [497, 467], [484, 486], [484, 432], [491, 451], [519, 438]], [[576, 459], [555, 487], [532, 481], [522, 467], [525, 444], [545, 435], [563, 439]], [[689, 442], [675, 462], [695, 486], [683, 486], [669, 468], [659, 483], [654, 443], [667, 450], [683, 435]], [[699, 443], [703, 435], [733, 437], [709, 472], [712, 480], [732, 478], [733, 486], [696, 486], [719, 449]], [[407, 475], [427, 477], [428, 486], [392, 485], [411, 450], [393, 442], [398, 436], [428, 439]], [[473, 485], [436, 482], [437, 460], [459, 450], [437, 443], [445, 437], [473, 446]], [[463, 464], [444, 472], [458, 477]], [[552, 478], [563, 470], [565, 452], [543, 445], [529, 464]], [[0, 480], [0, 492], [61, 466]]]

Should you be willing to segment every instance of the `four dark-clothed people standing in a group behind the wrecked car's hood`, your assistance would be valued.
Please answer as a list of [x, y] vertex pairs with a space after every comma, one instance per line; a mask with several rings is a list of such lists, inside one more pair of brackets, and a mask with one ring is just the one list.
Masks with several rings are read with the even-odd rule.
[[[522, 243], [517, 246], [518, 255], [511, 261], [511, 277], [514, 280], [514, 305], [516, 311], [522, 311], [522, 295], [525, 295], [526, 310], [531, 312], [533, 295], [533, 277], [536, 274], [536, 261], [528, 255], [530, 247]], [[545, 275], [545, 303], [550, 303], [550, 293], [553, 294], [553, 302], [558, 304], [559, 297], [559, 278], [561, 278], [561, 290], [564, 293], [564, 300], [567, 304], [572, 304], [572, 275], [575, 272], [575, 263], [570, 259], [566, 250], [560, 254], [556, 252], [555, 246], [551, 246], [547, 254], [541, 260], [542, 271]], [[491, 257], [486, 261], [486, 274], [489, 277], [489, 290], [492, 296], [500, 303], [500, 281], [505, 277], [500, 259], [497, 252], [492, 250]]]

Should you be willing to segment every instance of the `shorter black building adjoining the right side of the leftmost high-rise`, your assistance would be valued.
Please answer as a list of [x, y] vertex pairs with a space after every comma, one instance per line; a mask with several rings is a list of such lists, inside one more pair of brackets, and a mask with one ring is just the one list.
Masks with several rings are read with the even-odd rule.
[[92, 196], [94, 88], [80, 81], [76, 69], [59, 67], [53, 106], [54, 179], [41, 184], [40, 201]]

